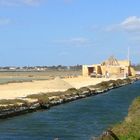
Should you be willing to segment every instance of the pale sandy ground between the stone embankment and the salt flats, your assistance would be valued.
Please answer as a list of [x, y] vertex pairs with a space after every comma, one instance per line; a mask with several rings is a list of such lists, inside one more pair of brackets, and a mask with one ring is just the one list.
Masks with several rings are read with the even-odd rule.
[[[14, 99], [25, 97], [29, 94], [37, 94], [41, 92], [65, 91], [69, 88], [80, 88], [88, 85], [95, 85], [102, 81], [110, 79], [106, 78], [55, 78], [54, 80], [43, 80], [23, 83], [9, 83], [0, 85], [0, 99]], [[115, 80], [115, 79], [114, 79]]]

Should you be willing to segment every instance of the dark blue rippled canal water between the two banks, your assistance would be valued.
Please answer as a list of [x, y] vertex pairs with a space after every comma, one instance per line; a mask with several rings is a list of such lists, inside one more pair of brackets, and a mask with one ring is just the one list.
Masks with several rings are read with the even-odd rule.
[[140, 82], [46, 111], [0, 121], [1, 140], [90, 140], [123, 120]]

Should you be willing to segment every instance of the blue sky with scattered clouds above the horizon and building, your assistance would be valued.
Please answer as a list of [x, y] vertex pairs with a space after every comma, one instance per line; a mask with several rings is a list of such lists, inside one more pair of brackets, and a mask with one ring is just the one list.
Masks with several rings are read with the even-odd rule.
[[1, 66], [140, 63], [139, 0], [0, 0]]

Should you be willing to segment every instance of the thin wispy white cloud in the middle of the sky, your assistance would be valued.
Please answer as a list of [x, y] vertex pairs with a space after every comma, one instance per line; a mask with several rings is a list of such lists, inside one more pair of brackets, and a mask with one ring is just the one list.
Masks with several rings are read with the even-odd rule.
[[57, 44], [64, 44], [64, 45], [77, 46], [77, 47], [83, 47], [83, 46], [86, 47], [86, 46], [93, 45], [93, 42], [90, 39], [83, 38], [83, 37], [54, 40], [53, 42]]

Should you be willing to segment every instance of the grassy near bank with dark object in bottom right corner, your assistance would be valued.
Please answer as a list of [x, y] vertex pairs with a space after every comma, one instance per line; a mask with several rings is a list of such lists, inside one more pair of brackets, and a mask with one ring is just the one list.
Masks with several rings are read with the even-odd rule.
[[129, 105], [127, 116], [120, 123], [108, 128], [95, 140], [138, 140], [140, 138], [140, 96]]

